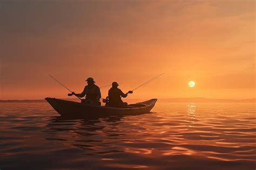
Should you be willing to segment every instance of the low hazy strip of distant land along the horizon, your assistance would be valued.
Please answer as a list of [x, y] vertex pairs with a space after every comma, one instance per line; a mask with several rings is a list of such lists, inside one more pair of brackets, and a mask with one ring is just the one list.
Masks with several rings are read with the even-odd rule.
[[[71, 100], [80, 102], [75, 98], [66, 98], [63, 100]], [[131, 102], [139, 102], [145, 101], [147, 99], [127, 99], [129, 103]], [[39, 100], [0, 100], [0, 103], [46, 103], [47, 101], [44, 99]], [[207, 99], [207, 98], [166, 98], [166, 99], [158, 99], [158, 102], [162, 103], [256, 103], [256, 99]]]

